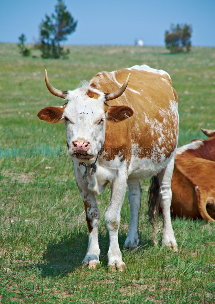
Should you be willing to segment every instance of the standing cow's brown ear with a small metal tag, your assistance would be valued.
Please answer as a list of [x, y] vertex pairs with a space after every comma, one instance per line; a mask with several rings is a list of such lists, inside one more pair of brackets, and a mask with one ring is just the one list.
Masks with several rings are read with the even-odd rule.
[[126, 105], [116, 105], [110, 107], [106, 112], [106, 119], [115, 122], [122, 121], [134, 114], [134, 111]]

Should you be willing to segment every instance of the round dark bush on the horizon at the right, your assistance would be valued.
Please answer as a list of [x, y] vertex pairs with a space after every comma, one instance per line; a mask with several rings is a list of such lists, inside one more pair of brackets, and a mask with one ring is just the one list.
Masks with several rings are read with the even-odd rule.
[[171, 53], [188, 53], [191, 49], [192, 26], [188, 24], [171, 25], [165, 32], [165, 44]]

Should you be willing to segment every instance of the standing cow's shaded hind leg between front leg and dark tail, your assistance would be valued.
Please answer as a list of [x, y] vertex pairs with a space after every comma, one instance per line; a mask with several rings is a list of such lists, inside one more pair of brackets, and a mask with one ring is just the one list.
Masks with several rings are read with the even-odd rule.
[[128, 248], [136, 248], [140, 241], [138, 224], [142, 189], [139, 180], [135, 179], [128, 181], [128, 189], [128, 199], [130, 204], [130, 226], [124, 246]]

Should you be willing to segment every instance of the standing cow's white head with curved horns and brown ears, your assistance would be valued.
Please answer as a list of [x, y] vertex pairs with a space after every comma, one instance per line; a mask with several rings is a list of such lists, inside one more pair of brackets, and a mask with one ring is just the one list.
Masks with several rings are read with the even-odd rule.
[[68, 153], [79, 161], [92, 162], [103, 146], [106, 121], [117, 123], [133, 115], [133, 110], [128, 106], [108, 106], [106, 103], [123, 94], [129, 78], [130, 74], [124, 85], [113, 93], [101, 92], [88, 83], [73, 91], [60, 91], [50, 84], [45, 70], [48, 90], [64, 98], [65, 104], [61, 107], [46, 107], [37, 116], [49, 123], [64, 121]]

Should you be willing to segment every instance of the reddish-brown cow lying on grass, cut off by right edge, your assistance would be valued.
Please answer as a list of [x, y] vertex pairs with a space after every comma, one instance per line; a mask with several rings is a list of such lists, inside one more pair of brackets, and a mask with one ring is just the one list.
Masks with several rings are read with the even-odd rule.
[[209, 138], [192, 140], [177, 149], [172, 175], [174, 216], [215, 219], [215, 130], [201, 129]]

